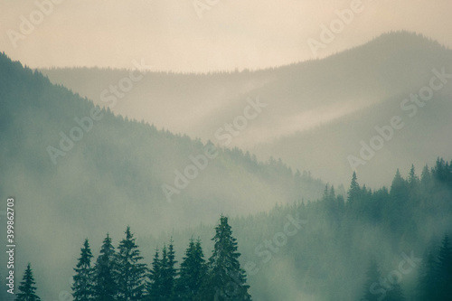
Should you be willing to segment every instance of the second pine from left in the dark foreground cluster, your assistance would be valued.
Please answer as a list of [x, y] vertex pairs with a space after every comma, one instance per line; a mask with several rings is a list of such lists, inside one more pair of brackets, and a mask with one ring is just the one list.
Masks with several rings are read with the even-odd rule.
[[96, 301], [115, 300], [117, 284], [115, 282], [114, 265], [115, 248], [107, 234], [94, 267], [94, 299]]

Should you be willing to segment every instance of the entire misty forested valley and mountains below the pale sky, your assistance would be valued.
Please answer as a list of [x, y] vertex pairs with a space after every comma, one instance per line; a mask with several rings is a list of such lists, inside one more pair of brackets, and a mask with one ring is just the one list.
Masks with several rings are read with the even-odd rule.
[[0, 53], [1, 301], [452, 300], [450, 49], [130, 65]]

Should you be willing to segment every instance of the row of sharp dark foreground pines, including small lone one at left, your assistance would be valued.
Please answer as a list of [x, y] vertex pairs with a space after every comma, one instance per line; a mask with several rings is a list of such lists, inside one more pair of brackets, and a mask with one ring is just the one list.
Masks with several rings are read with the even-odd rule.
[[[251, 300], [246, 272], [240, 268], [238, 243], [227, 217], [221, 216], [215, 228], [212, 256], [206, 261], [201, 240], [192, 238], [180, 268], [176, 268], [173, 240], [162, 249], [155, 249], [148, 268], [130, 227], [125, 234], [117, 249], [107, 234], [96, 260], [89, 240], [84, 241], [74, 268], [74, 301]], [[36, 295], [30, 264], [19, 290], [17, 301], [41, 300]]]

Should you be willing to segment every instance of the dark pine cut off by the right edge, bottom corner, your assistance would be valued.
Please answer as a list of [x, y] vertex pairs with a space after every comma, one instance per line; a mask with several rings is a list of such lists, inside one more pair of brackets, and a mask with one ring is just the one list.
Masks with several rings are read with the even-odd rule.
[[447, 235], [438, 254], [438, 301], [450, 300], [452, 296], [452, 248]]

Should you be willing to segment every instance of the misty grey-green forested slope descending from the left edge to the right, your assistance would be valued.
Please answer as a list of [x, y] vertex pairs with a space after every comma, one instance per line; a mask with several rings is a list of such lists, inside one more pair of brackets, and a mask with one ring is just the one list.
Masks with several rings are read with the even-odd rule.
[[[127, 224], [158, 233], [213, 223], [219, 212], [246, 215], [315, 199], [325, 186], [280, 160], [262, 163], [221, 146], [215, 152], [212, 143], [98, 109], [5, 54], [0, 85], [0, 196], [17, 199], [27, 221], [17, 225], [24, 241], [17, 256], [42, 270], [49, 299], [54, 287], [66, 287], [71, 271], [59, 267], [71, 264], [72, 244], [88, 231], [100, 240]], [[51, 241], [58, 247], [49, 249]], [[53, 279], [56, 269], [62, 277]]]

